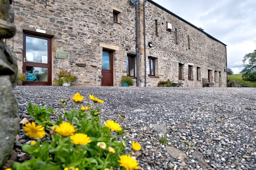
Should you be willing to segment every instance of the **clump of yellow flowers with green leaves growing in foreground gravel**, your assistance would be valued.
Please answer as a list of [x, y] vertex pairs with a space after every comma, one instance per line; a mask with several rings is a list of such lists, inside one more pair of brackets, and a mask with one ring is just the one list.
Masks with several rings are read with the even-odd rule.
[[[46, 106], [38, 108], [36, 104], [30, 103], [28, 112], [34, 116], [34, 122], [25, 124], [23, 129], [28, 137], [35, 140], [22, 145], [22, 149], [31, 159], [22, 163], [14, 162], [14, 170], [138, 169], [137, 160], [122, 153], [126, 147], [125, 142], [118, 141], [112, 132], [121, 130], [120, 125], [111, 120], [102, 124], [99, 118], [100, 108], [96, 109], [95, 106], [104, 101], [90, 95], [92, 107], [82, 106], [77, 109], [77, 103], [83, 98], [79, 93], [75, 94], [72, 98], [75, 102], [74, 108], [69, 112], [65, 108], [67, 100], [60, 100], [67, 121], [64, 122], [60, 115], [56, 123], [49, 119], [49, 114], [53, 113], [52, 109], [46, 110]], [[52, 133], [45, 133], [46, 128], [51, 129]], [[40, 138], [45, 136], [50, 140], [40, 141]], [[140, 149], [138, 142], [132, 143], [132, 150]]]

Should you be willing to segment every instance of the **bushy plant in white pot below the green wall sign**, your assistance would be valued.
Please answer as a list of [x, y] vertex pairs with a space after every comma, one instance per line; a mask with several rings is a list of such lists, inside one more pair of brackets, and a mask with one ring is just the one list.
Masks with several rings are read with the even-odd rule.
[[77, 80], [77, 77], [71, 74], [71, 71], [61, 70], [58, 74], [58, 79], [56, 79], [56, 86], [70, 86], [71, 82]]

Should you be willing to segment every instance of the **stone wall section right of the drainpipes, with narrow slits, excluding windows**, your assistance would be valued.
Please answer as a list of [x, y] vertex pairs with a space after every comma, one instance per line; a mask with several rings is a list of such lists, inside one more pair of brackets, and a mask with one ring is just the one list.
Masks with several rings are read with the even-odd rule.
[[[208, 70], [212, 70], [210, 82], [215, 83], [215, 87], [226, 87], [226, 46], [210, 38], [203, 30], [177, 18], [175, 14], [150, 2], [145, 5], [146, 44], [154, 44], [152, 48], [147, 46], [147, 57], [156, 57], [158, 63], [156, 77], [148, 77], [147, 85], [156, 86], [159, 79], [177, 80], [179, 63], [182, 63], [185, 67], [183, 87], [202, 87], [202, 78], [208, 78]], [[171, 32], [166, 30], [166, 22], [172, 24]], [[193, 68], [193, 80], [188, 80], [188, 65]], [[201, 72], [199, 81], [196, 80], [197, 67], [200, 67]]]

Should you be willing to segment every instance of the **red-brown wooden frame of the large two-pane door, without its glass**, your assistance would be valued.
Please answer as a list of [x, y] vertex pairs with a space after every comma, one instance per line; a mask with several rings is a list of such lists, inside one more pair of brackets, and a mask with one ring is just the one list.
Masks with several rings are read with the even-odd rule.
[[[26, 60], [26, 36], [47, 40], [47, 61], [48, 61], [47, 64], [29, 62], [29, 61], [26, 61], [24, 63], [24, 58]], [[51, 86], [52, 85], [52, 50], [51, 50], [52, 37], [53, 37], [52, 35], [38, 34], [31, 31], [23, 32], [22, 72], [26, 73], [26, 66], [34, 66], [34, 67], [48, 68], [48, 74], [47, 74], [47, 82], [46, 81], [25, 81], [22, 83], [22, 85], [28, 85], [28, 86]]]

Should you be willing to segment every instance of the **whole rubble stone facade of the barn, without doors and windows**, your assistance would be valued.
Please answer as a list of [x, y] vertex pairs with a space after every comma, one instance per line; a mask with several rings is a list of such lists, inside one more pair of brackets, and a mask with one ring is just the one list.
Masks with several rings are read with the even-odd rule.
[[[156, 58], [156, 76], [145, 73], [143, 0], [139, 0], [139, 86], [157, 86], [159, 80], [177, 80], [178, 64], [193, 66], [193, 79], [188, 80], [183, 71], [185, 87], [202, 87], [201, 78], [208, 77], [208, 69], [221, 74], [221, 87], [226, 87], [226, 48], [223, 43], [207, 36], [174, 15], [145, 2], [146, 64], [148, 56]], [[53, 0], [44, 7], [44, 1], [15, 1], [15, 25], [13, 49], [22, 72], [23, 32], [46, 31], [52, 38], [52, 80], [60, 69], [73, 72], [76, 86], [101, 86], [102, 49], [114, 51], [114, 86], [121, 86], [126, 76], [127, 53], [136, 54], [135, 5], [130, 0]], [[119, 13], [119, 22], [113, 21], [113, 10]], [[158, 35], [156, 35], [156, 21]], [[172, 32], [166, 31], [166, 21], [172, 24]], [[174, 31], [176, 29], [176, 32]], [[42, 33], [37, 33], [41, 34]], [[188, 48], [188, 36], [190, 49]], [[12, 46], [12, 40], [8, 40]], [[56, 58], [56, 50], [68, 51], [68, 59]], [[200, 81], [196, 80], [196, 67], [201, 68]], [[148, 69], [148, 65], [146, 65]], [[146, 80], [145, 80], [146, 75]], [[219, 74], [218, 74], [219, 75]], [[134, 79], [136, 82], [136, 79]], [[217, 76], [216, 87], [219, 78]], [[135, 83], [136, 85], [136, 83]]]

